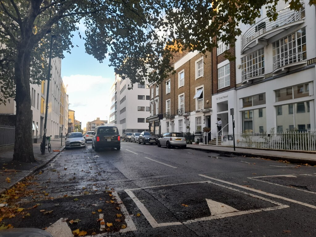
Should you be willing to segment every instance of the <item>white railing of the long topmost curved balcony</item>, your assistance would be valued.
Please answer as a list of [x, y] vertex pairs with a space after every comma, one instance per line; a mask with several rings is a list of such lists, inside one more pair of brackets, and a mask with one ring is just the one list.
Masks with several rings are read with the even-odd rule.
[[[270, 21], [268, 17], [258, 21], [252, 25], [241, 37], [241, 51], [243, 52], [246, 47], [255, 39], [260, 38], [260, 35], [267, 34], [269, 31], [277, 31], [280, 27], [290, 23], [300, 21], [305, 18], [305, 8], [300, 11], [291, 10], [288, 8], [278, 12], [278, 17], [275, 21]], [[271, 35], [272, 36], [272, 35]]]

